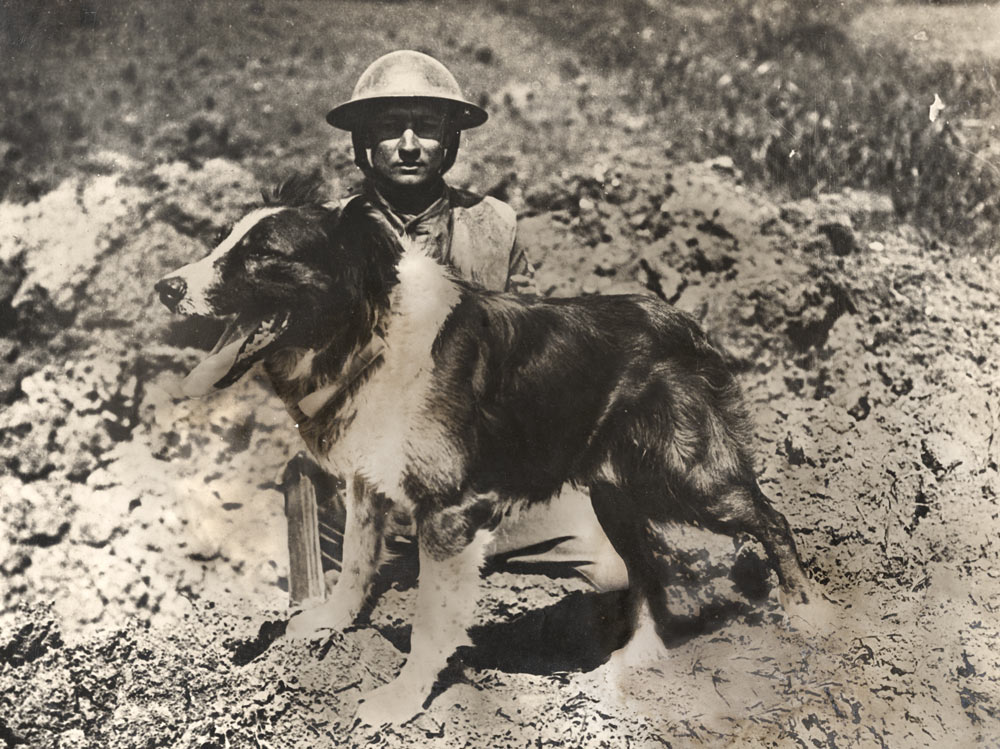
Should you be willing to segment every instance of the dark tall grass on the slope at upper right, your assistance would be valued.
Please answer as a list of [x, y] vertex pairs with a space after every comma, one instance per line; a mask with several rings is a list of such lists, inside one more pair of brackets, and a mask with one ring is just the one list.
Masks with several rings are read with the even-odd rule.
[[[656, 118], [681, 157], [727, 154], [751, 180], [793, 196], [884, 191], [902, 218], [998, 249], [995, 59], [865, 48], [848, 34], [862, 5], [495, 4], [588, 50], [597, 65], [630, 70], [633, 104]], [[935, 94], [948, 108], [932, 122]]]

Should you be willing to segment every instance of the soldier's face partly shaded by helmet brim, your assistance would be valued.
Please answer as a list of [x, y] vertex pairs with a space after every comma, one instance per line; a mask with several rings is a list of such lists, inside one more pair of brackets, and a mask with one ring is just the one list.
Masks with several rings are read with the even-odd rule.
[[445, 117], [433, 105], [392, 105], [366, 133], [376, 178], [395, 187], [433, 182], [444, 160]]

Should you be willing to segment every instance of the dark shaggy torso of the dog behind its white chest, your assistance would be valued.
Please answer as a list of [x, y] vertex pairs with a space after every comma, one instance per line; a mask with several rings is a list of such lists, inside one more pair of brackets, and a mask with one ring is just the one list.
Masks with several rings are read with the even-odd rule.
[[676, 478], [706, 459], [725, 480], [750, 470], [722, 356], [655, 298], [467, 289], [434, 360], [429, 408], [446, 415], [477, 491], [546, 499], [566, 481], [634, 475], [654, 457]]

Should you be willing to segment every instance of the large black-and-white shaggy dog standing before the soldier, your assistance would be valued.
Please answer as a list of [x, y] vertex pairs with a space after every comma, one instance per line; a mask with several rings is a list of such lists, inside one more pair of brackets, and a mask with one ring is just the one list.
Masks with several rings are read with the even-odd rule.
[[670, 521], [756, 537], [786, 610], [820, 600], [757, 484], [723, 354], [653, 296], [485, 291], [395, 235], [363, 199], [325, 204], [304, 179], [156, 291], [174, 312], [228, 319], [186, 392], [224, 388], [261, 362], [309, 449], [347, 480], [341, 576], [290, 632], [350, 626], [385, 555], [392, 507], [415, 519], [410, 656], [361, 703], [365, 723], [423, 709], [468, 642], [491, 531], [567, 482], [589, 489], [628, 570], [631, 609], [648, 611], [661, 636], [669, 612], [655, 556]]

